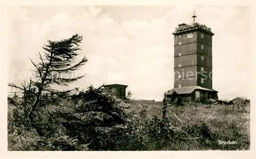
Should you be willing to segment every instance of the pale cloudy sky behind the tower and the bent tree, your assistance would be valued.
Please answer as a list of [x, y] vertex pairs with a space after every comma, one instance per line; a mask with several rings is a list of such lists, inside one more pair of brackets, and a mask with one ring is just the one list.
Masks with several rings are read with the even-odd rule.
[[172, 33], [179, 23], [192, 22], [194, 9], [197, 22], [215, 33], [213, 89], [221, 99], [250, 98], [255, 58], [250, 50], [250, 8], [245, 6], [10, 7], [5, 10], [6, 32], [11, 35], [6, 43], [8, 82], [20, 84], [20, 78], [28, 78], [33, 68], [29, 57], [36, 60], [47, 39], [78, 33], [83, 36], [80, 52], [89, 59], [78, 73], [87, 76], [70, 87], [118, 83], [129, 85], [132, 98], [161, 100], [174, 86]]

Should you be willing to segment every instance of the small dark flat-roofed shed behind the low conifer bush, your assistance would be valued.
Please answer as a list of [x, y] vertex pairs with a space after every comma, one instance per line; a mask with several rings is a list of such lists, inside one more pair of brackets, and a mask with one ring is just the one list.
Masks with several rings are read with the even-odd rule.
[[126, 96], [127, 87], [127, 85], [120, 84], [104, 85], [104, 88], [107, 90], [106, 93], [109, 93], [110, 95], [120, 99], [123, 99]]

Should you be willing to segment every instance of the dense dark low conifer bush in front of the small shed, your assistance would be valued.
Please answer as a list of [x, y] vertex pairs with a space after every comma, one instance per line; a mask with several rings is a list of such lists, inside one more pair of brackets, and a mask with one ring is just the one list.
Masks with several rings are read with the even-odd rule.
[[127, 118], [120, 102], [106, 95], [102, 87], [92, 86], [73, 95], [72, 102], [68, 110], [55, 112], [68, 135], [80, 143], [90, 143], [90, 149], [115, 149]]

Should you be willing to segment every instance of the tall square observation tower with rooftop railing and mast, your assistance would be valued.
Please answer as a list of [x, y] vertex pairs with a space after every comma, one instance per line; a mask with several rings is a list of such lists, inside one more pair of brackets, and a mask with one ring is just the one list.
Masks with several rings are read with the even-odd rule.
[[195, 100], [199, 97], [218, 99], [218, 91], [212, 89], [212, 36], [207, 26], [195, 22], [179, 24], [174, 35], [174, 88], [179, 96]]

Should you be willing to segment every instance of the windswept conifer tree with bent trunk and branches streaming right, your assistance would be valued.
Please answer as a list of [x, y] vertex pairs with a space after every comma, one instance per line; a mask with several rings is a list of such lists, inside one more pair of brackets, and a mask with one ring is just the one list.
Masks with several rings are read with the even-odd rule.
[[[68, 86], [68, 84], [79, 80], [85, 75], [71, 78], [65, 77], [65, 75], [73, 73], [88, 62], [88, 59], [85, 56], [80, 61], [76, 61], [76, 58], [79, 56], [78, 50], [81, 49], [79, 47], [81, 41], [82, 36], [79, 36], [78, 34], [73, 35], [69, 39], [60, 41], [48, 40], [48, 44], [42, 46], [44, 54], [39, 52], [37, 55], [40, 61], [36, 63], [30, 59], [35, 69], [32, 70], [34, 78], [33, 80], [30, 80], [29, 85], [19, 87], [14, 84], [8, 84], [10, 87], [23, 90], [26, 101], [28, 97], [31, 97], [31, 95], [33, 96], [30, 98], [30, 103], [26, 102], [26, 105], [23, 105], [23, 107], [26, 107], [26, 109], [23, 109], [23, 112], [25, 113], [24, 122], [28, 119], [29, 123], [37, 129], [39, 135], [41, 134], [40, 130], [38, 130], [38, 126], [34, 123], [34, 111], [38, 105], [40, 105], [39, 103], [41, 102], [42, 93], [57, 95], [69, 93], [72, 90], [58, 91], [52, 89], [52, 86]], [[20, 103], [16, 103], [15, 106], [18, 107], [19, 104]]]

